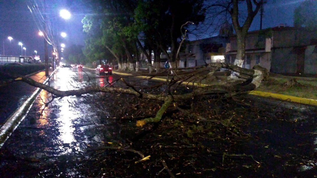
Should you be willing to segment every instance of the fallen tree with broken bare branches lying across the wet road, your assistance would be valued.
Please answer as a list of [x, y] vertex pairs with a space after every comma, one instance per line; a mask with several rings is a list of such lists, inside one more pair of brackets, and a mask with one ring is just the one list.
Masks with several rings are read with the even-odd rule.
[[[208, 83], [206, 79], [212, 76], [216, 71], [219, 71], [220, 68], [226, 68], [230, 71], [240, 73], [240, 78], [238, 80], [227, 80], [220, 83]], [[163, 114], [172, 104], [174, 106], [181, 101], [191, 100], [194, 97], [200, 95], [224, 95], [225, 97], [230, 97], [237, 93], [247, 92], [256, 89], [260, 84], [264, 76], [266, 76], [266, 69], [257, 66], [256, 70], [253, 69], [245, 69], [238, 67], [232, 64], [226, 63], [211, 63], [204, 66], [197, 66], [191, 68], [174, 68], [169, 69], [173, 70], [172, 75], [167, 75], [166, 82], [160, 83], [155, 86], [146, 87], [146, 89], [150, 89], [150, 92], [145, 92], [144, 87], [139, 87], [138, 83], [151, 80], [155, 76], [166, 76], [166, 72], [159, 74], [146, 74], [147, 77], [139, 81], [138, 83], [128, 83], [127, 78], [129, 77], [140, 77], [142, 75], [130, 75], [119, 77], [117, 80], [112, 83], [108, 83], [108, 87], [100, 87], [96, 85], [87, 86], [85, 88], [61, 91], [54, 89], [48, 85], [38, 83], [28, 77], [18, 77], [14, 81], [20, 80], [25, 83], [28, 83], [31, 86], [38, 87], [44, 89], [51, 93], [54, 98], [71, 96], [71, 95], [83, 95], [95, 92], [103, 92], [103, 93], [119, 93], [119, 94], [128, 94], [134, 95], [139, 98], [164, 101], [160, 109], [158, 110], [155, 117], [145, 118], [142, 120], [138, 120], [137, 126], [144, 126], [147, 123], [151, 122], [159, 122], [162, 119]], [[8, 75], [8, 74], [3, 74]], [[11, 78], [15, 78], [17, 76], [10, 76]], [[123, 81], [126, 84], [126, 87], [115, 87], [114, 83], [119, 80]], [[188, 83], [190, 82], [190, 83]], [[196, 84], [194, 84], [194, 83]], [[203, 84], [205, 83], [205, 84]], [[186, 84], [186, 88], [191, 86], [190, 92], [185, 94], [177, 92], [178, 86], [180, 84]], [[196, 85], [199, 85], [197, 87]], [[152, 94], [152, 91], [157, 89], [158, 87], [165, 86], [165, 91]], [[188, 88], [189, 89], [189, 88]]]

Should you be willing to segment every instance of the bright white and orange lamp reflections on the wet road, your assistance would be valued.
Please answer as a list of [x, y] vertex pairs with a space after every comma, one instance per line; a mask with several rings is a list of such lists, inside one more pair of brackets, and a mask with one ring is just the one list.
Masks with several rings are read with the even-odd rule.
[[[51, 80], [50, 86], [59, 90], [70, 90], [94, 84], [104, 86], [113, 79], [112, 76], [93, 79], [91, 77], [99, 76], [94, 72], [85, 72], [77, 68], [60, 68]], [[88, 82], [89, 78], [91, 80]], [[68, 96], [55, 99], [45, 106], [45, 103], [52, 98], [51, 94], [42, 90], [27, 117], [3, 145], [2, 150], [9, 151], [7, 153], [9, 157], [57, 157], [71, 152], [81, 153], [87, 148], [87, 144], [92, 144], [92, 140], [94, 144], [101, 143], [105, 139], [110, 140], [111, 133], [117, 132], [117, 129], [111, 130], [111, 127], [108, 131], [96, 129], [104, 126], [105, 123], [100, 124], [96, 108], [86, 102], [94, 97], [96, 95]], [[107, 136], [109, 137], [105, 138]], [[42, 171], [40, 175], [45, 175], [46, 171], [48, 170]], [[80, 176], [76, 170], [72, 171], [73, 173], [70, 174]], [[21, 175], [17, 174], [17, 176]]]

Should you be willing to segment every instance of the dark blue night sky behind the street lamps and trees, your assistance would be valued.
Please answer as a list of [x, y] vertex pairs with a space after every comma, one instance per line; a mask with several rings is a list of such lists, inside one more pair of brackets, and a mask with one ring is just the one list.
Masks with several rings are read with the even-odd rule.
[[[33, 0], [34, 1], [34, 0]], [[39, 0], [37, 0], [39, 1]], [[269, 28], [286, 23], [293, 26], [294, 9], [304, 0], [268, 0], [264, 6], [262, 28]], [[78, 1], [80, 2], [80, 1]], [[60, 43], [67, 46], [72, 44], [84, 45], [84, 33], [82, 32], [81, 19], [85, 14], [89, 13], [89, 9], [80, 3], [68, 0], [46, 0], [48, 7], [55, 7], [48, 10], [48, 13], [56, 13], [54, 18], [50, 19], [53, 28], [59, 32], [66, 32], [65, 39], [59, 38]], [[58, 15], [60, 9], [68, 9], [72, 17], [64, 20]], [[260, 28], [260, 15], [256, 15], [249, 31], [258, 30]], [[44, 40], [38, 35], [38, 27], [33, 19], [31, 12], [27, 7], [26, 0], [0, 0], [0, 54], [3, 55], [3, 41], [5, 47], [5, 55], [21, 55], [21, 46], [18, 42], [23, 43], [26, 47], [26, 54], [31, 56], [36, 50], [41, 58], [44, 57]], [[13, 40], [8, 40], [11, 36]], [[208, 35], [202, 35], [208, 37]], [[193, 39], [195, 40], [195, 39]], [[51, 50], [51, 46], [48, 48]], [[23, 50], [24, 55], [24, 50]]]

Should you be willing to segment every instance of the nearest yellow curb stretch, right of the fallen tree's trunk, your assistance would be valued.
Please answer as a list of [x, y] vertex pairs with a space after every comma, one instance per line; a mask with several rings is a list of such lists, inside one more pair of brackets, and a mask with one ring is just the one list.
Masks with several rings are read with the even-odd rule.
[[263, 92], [263, 91], [255, 91], [255, 90], [250, 91], [249, 94], [263, 96], [263, 97], [272, 97], [272, 98], [276, 98], [280, 100], [287, 100], [287, 101], [317, 106], [317, 100], [308, 99], [308, 98], [300, 98], [296, 96], [281, 95], [276, 93], [269, 93], [269, 92]]

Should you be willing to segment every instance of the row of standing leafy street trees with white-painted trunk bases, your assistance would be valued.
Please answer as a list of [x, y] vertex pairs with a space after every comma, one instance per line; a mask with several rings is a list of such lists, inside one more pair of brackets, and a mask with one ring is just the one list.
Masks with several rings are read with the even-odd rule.
[[[140, 52], [143, 52], [151, 73], [152, 52], [157, 72], [160, 71], [160, 54], [163, 53], [171, 68], [176, 68], [179, 47], [187, 38], [186, 33], [199, 28], [206, 16], [230, 14], [238, 41], [235, 64], [242, 66], [245, 37], [263, 3], [263, 0], [96, 1], [90, 4], [94, 13], [82, 20], [84, 32], [88, 36], [85, 40], [85, 55], [93, 61], [100, 58], [115, 59], [119, 69], [138, 71]], [[240, 6], [247, 8], [246, 19], [239, 19]], [[215, 11], [218, 13], [210, 13]], [[245, 22], [240, 25], [243, 20]]]

